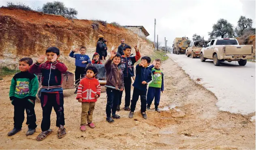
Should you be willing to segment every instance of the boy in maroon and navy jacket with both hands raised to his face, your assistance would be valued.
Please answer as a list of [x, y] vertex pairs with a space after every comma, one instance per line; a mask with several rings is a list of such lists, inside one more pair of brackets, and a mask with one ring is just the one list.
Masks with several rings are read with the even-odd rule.
[[[58, 48], [50, 47], [45, 53], [29, 69], [30, 73], [42, 73], [40, 100], [43, 109], [43, 120], [41, 123], [42, 132], [36, 137], [38, 141], [45, 139], [52, 132], [52, 129], [50, 129], [52, 107], [57, 115], [56, 126], [59, 127], [57, 136], [62, 138], [66, 135], [66, 129], [64, 128], [62, 73], [65, 73], [68, 68], [57, 60], [60, 57], [60, 50]], [[47, 61], [43, 63], [45, 57], [47, 57]]]

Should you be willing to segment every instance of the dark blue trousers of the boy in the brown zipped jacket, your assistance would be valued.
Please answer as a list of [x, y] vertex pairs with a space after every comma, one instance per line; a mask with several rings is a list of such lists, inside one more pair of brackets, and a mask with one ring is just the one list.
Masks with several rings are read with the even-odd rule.
[[115, 90], [112, 88], [107, 88], [106, 92], [107, 92], [106, 114], [107, 114], [107, 117], [111, 117], [111, 110], [112, 110], [112, 116], [115, 115], [121, 92], [119, 90]]

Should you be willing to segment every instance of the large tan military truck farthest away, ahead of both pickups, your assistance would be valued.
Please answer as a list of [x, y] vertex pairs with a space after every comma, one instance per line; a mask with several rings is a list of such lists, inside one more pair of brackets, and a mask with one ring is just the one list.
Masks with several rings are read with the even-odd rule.
[[173, 54], [185, 54], [189, 45], [188, 37], [176, 37], [173, 41]]

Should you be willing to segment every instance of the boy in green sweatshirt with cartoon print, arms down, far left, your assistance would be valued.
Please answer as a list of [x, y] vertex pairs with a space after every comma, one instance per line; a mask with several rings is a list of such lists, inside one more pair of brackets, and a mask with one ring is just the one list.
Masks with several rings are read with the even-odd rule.
[[24, 121], [24, 110], [27, 113], [28, 131], [26, 135], [32, 135], [36, 131], [36, 114], [34, 110], [36, 93], [38, 90], [38, 79], [35, 74], [28, 72], [33, 60], [31, 58], [21, 58], [19, 60], [20, 73], [14, 75], [11, 80], [9, 97], [14, 106], [14, 128], [8, 136], [15, 135], [21, 131]]

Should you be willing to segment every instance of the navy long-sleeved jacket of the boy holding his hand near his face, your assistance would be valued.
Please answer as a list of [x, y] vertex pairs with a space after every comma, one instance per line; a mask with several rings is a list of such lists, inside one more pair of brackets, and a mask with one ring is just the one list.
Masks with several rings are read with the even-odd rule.
[[147, 84], [142, 84], [143, 81], [146, 81], [149, 83], [152, 80], [152, 75], [151, 71], [149, 68], [144, 68], [139, 65], [136, 66], [136, 77], [135, 81], [132, 84], [134, 88], [137, 88], [142, 91], [147, 91]]

